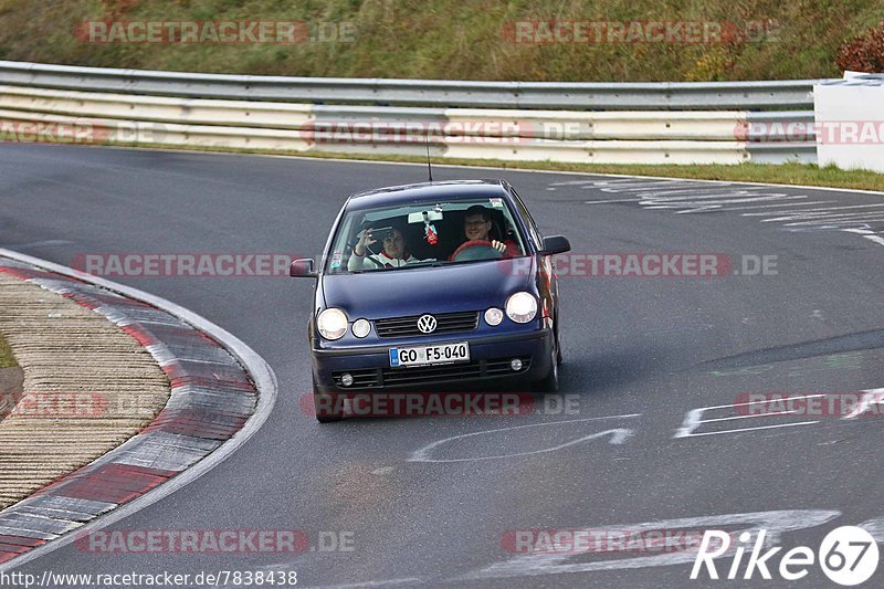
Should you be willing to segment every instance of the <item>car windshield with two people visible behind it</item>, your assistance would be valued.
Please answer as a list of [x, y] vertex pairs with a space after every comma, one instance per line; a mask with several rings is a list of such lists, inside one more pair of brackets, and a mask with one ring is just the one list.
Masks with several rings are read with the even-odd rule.
[[326, 272], [378, 272], [525, 255], [503, 198], [400, 204], [350, 211], [341, 219]]

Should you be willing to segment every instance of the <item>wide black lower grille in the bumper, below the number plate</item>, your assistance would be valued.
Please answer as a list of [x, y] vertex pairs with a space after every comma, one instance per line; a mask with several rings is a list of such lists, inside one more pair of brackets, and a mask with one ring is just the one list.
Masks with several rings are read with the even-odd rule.
[[[522, 360], [522, 370], [526, 372], [532, 366], [530, 356], [516, 356]], [[491, 360], [474, 360], [472, 362], [449, 364], [445, 366], [421, 366], [413, 368], [362, 368], [357, 370], [336, 370], [332, 374], [335, 385], [345, 390], [368, 389], [380, 387], [400, 387], [407, 385], [435, 385], [457, 380], [477, 379], [486, 377], [511, 376], [509, 368], [512, 356], [493, 358]], [[352, 385], [344, 387], [340, 377], [345, 372], [352, 376]]]

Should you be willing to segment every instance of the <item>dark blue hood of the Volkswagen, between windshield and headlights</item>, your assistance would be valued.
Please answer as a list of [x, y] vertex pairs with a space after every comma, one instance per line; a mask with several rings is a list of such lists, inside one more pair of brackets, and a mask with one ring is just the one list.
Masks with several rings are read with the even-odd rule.
[[533, 256], [441, 267], [387, 270], [324, 275], [328, 307], [343, 308], [350, 319], [377, 319], [503, 307], [517, 291], [536, 292]]

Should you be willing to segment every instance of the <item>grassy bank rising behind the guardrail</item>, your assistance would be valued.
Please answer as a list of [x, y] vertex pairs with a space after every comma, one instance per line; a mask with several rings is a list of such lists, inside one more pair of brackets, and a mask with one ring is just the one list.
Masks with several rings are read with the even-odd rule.
[[[299, 20], [354, 27], [350, 42], [95, 44], [84, 21]], [[514, 21], [716, 21], [707, 44], [514, 43]], [[0, 0], [0, 59], [191, 72], [528, 81], [840, 76], [838, 50], [881, 20], [877, 0]], [[766, 23], [767, 33], [744, 34]]]

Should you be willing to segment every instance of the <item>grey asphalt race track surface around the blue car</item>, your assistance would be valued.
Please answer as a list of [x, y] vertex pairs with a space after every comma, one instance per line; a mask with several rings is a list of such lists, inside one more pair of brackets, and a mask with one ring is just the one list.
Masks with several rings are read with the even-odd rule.
[[[0, 246], [65, 265], [81, 253], [309, 256], [349, 193], [424, 173], [422, 166], [0, 145]], [[543, 232], [570, 239], [572, 260], [716, 253], [736, 274], [561, 276], [561, 393], [576, 396], [568, 414], [327, 425], [299, 404], [311, 390], [311, 281], [108, 276], [236, 335], [280, 383], [275, 410], [251, 441], [112, 529], [351, 533], [352, 550], [106, 554], [69, 545], [20, 570], [295, 570], [307, 587], [681, 587], [693, 557], [677, 551], [526, 557], [506, 549], [507, 534], [765, 528], [787, 549], [815, 550], [831, 529], [864, 524], [884, 541], [876, 406], [853, 419], [734, 407], [747, 393], [859, 398], [884, 387], [881, 194], [444, 167], [434, 176], [506, 178]], [[756, 272], [761, 256], [776, 256], [764, 259], [767, 272]], [[722, 583], [701, 578], [695, 585]], [[827, 582], [817, 567], [792, 585]]]

